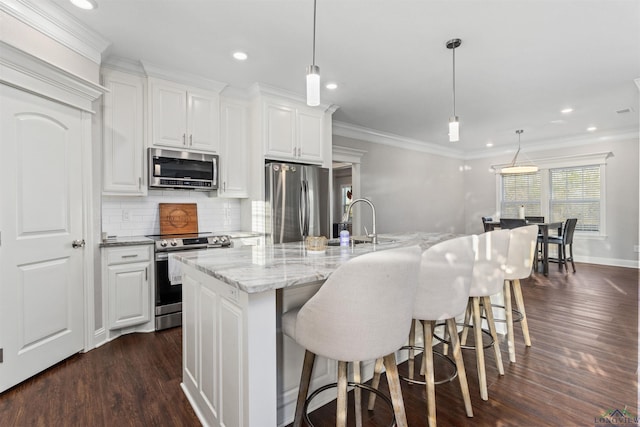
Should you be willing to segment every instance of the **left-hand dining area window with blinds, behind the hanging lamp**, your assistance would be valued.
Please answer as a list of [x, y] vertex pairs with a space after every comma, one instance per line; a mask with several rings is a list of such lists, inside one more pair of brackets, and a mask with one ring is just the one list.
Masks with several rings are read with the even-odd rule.
[[541, 215], [542, 181], [540, 171], [502, 176], [500, 212], [504, 218], [517, 218], [520, 206], [526, 216]]

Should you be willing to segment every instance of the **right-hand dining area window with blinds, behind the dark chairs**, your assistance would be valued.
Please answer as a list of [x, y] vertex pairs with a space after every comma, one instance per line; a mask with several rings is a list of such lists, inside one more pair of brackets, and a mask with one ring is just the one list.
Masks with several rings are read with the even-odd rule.
[[552, 221], [578, 218], [576, 231], [600, 231], [600, 166], [551, 169]]

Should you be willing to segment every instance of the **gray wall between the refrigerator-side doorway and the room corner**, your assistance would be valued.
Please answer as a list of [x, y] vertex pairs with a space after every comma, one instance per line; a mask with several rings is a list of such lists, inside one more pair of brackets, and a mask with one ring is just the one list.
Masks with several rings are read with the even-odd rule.
[[[465, 232], [463, 161], [388, 145], [333, 136], [333, 144], [366, 151], [361, 193], [376, 206], [377, 232]], [[365, 205], [361, 222], [371, 231]], [[357, 230], [354, 230], [354, 234]]]

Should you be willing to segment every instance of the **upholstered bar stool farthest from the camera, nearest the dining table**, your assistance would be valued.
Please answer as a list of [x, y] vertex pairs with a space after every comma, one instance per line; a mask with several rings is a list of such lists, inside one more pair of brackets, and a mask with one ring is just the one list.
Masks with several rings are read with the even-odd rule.
[[524, 308], [524, 298], [520, 280], [531, 276], [533, 260], [536, 255], [538, 242], [538, 226], [527, 225], [510, 230], [509, 250], [507, 252], [507, 262], [505, 264], [504, 275], [504, 305], [505, 317], [507, 321], [507, 347], [509, 349], [509, 360], [516, 361], [515, 338], [513, 332], [513, 308], [511, 303], [511, 291], [516, 301], [518, 320], [522, 326], [522, 335], [527, 347], [531, 347], [529, 337], [529, 324], [527, 313]]

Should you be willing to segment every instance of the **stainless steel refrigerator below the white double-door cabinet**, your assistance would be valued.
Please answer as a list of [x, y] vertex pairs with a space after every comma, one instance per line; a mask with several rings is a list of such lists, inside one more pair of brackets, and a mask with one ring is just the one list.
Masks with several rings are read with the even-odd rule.
[[267, 163], [265, 185], [265, 231], [273, 243], [331, 237], [328, 169]]

